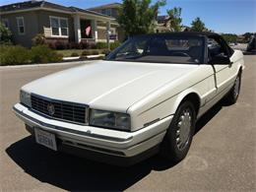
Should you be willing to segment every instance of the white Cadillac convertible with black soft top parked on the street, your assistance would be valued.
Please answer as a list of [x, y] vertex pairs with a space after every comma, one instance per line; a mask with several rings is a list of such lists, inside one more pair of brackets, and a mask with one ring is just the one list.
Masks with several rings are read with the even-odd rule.
[[210, 32], [138, 35], [94, 64], [33, 81], [13, 109], [36, 143], [114, 163], [185, 158], [195, 123], [239, 95], [243, 54]]

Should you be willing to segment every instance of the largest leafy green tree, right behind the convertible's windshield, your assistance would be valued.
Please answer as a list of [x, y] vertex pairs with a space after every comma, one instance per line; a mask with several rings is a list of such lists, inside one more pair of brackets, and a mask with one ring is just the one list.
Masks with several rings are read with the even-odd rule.
[[165, 0], [153, 5], [151, 0], [123, 0], [118, 22], [127, 36], [154, 32], [159, 8], [165, 3]]

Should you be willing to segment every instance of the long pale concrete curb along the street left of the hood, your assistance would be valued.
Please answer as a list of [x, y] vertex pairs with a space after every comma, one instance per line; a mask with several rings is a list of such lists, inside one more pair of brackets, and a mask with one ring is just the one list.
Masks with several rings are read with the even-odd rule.
[[93, 61], [72, 61], [72, 62], [61, 62], [61, 63], [45, 63], [45, 64], [30, 64], [30, 65], [8, 65], [8, 66], [0, 66], [1, 69], [19, 69], [19, 68], [29, 68], [29, 67], [49, 67], [49, 66], [65, 66], [65, 65], [79, 65], [92, 63]]

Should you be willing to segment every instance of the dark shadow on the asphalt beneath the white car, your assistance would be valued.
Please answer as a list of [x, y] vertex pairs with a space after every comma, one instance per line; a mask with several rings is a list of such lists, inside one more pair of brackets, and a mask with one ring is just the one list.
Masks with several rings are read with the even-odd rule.
[[[196, 124], [196, 134], [222, 109], [216, 104]], [[56, 153], [36, 145], [32, 136], [6, 149], [8, 156], [32, 177], [68, 191], [123, 191], [152, 170], [175, 164], [155, 156], [129, 167], [109, 165]]]

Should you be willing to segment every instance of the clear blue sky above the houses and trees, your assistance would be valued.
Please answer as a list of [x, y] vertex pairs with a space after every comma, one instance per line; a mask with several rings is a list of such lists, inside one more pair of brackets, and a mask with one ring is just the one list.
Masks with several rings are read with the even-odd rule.
[[[0, 0], [6, 5], [26, 0]], [[90, 8], [98, 5], [119, 2], [122, 0], [47, 0], [65, 6]], [[152, 0], [156, 2], [157, 0]], [[191, 22], [200, 17], [206, 27], [214, 32], [241, 34], [256, 32], [256, 0], [167, 0], [160, 8], [160, 15], [173, 7], [182, 8], [182, 24], [190, 26]]]

